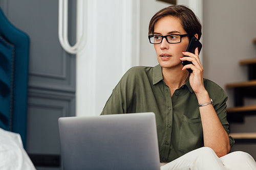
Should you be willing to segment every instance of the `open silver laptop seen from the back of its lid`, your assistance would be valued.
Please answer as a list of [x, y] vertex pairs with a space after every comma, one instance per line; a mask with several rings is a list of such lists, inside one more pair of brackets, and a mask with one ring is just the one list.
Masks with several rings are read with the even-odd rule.
[[160, 169], [155, 114], [61, 117], [64, 169]]

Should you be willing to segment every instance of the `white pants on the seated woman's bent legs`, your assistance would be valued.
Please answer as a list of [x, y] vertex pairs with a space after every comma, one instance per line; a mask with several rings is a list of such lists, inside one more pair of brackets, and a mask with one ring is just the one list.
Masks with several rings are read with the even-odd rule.
[[237, 151], [218, 157], [208, 147], [199, 148], [161, 166], [161, 170], [247, 170], [256, 169], [255, 160], [247, 153]]

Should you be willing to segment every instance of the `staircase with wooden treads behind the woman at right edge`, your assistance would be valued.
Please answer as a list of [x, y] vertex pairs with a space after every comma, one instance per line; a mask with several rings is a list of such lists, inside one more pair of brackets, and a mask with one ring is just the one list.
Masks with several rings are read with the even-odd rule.
[[[256, 39], [253, 40], [253, 43], [256, 44]], [[242, 60], [239, 64], [248, 67], [248, 81], [226, 85], [226, 89], [233, 89], [234, 92], [234, 107], [227, 108], [227, 119], [230, 123], [243, 124], [245, 116], [256, 115], [256, 104], [245, 106], [244, 103], [245, 98], [256, 99], [256, 58]], [[232, 132], [232, 129], [230, 132]], [[229, 135], [236, 142], [256, 142], [256, 132], [230, 133]]]

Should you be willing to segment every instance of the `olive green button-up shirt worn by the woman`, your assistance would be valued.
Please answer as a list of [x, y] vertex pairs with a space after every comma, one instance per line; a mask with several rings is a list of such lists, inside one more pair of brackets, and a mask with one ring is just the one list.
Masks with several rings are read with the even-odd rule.
[[[214, 82], [204, 79], [214, 108], [227, 133], [227, 95]], [[161, 162], [170, 162], [203, 147], [203, 128], [197, 97], [187, 81], [170, 95], [162, 67], [136, 66], [129, 69], [114, 88], [101, 114], [154, 112]], [[230, 145], [234, 140], [229, 137]]]

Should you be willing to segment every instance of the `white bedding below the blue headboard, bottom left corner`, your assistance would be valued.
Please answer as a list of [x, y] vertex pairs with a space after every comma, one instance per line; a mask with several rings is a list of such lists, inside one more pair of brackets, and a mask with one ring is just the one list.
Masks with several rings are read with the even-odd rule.
[[17, 133], [0, 128], [0, 169], [35, 169]]

